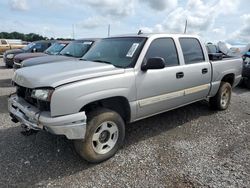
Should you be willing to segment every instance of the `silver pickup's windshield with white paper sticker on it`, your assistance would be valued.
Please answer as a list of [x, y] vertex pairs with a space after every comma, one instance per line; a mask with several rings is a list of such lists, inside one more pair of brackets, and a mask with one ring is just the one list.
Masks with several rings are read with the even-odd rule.
[[83, 60], [110, 63], [116, 67], [133, 67], [146, 38], [107, 38], [98, 42], [83, 56]]

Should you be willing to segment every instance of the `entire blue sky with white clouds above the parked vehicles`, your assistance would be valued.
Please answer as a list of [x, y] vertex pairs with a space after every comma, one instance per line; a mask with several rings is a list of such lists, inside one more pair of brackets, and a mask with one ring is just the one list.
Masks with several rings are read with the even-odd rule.
[[1, 31], [47, 37], [144, 32], [199, 34], [205, 41], [250, 42], [249, 0], [2, 0]]

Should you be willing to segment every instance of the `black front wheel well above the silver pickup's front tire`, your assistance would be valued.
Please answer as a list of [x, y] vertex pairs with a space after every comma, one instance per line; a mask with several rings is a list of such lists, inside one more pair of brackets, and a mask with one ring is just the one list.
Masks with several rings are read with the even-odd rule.
[[98, 101], [91, 102], [81, 108], [80, 111], [85, 111], [86, 114], [97, 108], [108, 108], [120, 114], [125, 122], [130, 121], [130, 106], [129, 102], [125, 97], [111, 97], [106, 99], [101, 99]]

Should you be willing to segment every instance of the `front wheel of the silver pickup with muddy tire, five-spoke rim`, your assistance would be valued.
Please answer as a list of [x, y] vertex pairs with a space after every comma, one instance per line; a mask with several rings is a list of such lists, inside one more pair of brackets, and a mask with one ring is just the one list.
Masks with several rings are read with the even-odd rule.
[[105, 161], [115, 155], [123, 144], [125, 124], [121, 116], [109, 109], [99, 109], [87, 115], [86, 135], [75, 140], [77, 153], [92, 163]]

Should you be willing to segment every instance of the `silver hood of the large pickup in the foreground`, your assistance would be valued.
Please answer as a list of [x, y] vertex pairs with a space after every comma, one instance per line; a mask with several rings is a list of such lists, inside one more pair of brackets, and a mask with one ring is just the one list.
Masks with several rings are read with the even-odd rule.
[[71, 60], [58, 63], [49, 63], [18, 69], [14, 73], [13, 81], [23, 87], [57, 87], [63, 84], [98, 78], [103, 76], [122, 74], [125, 70], [113, 65]]

